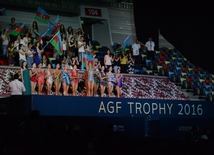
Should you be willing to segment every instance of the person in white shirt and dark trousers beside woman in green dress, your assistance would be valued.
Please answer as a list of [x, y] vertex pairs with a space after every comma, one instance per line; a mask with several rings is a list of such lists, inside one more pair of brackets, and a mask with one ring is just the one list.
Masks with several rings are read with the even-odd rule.
[[23, 110], [23, 93], [26, 91], [24, 84], [19, 81], [19, 74], [14, 75], [14, 80], [9, 82], [11, 92], [10, 106], [12, 115], [22, 115]]

